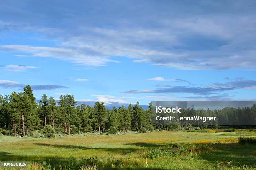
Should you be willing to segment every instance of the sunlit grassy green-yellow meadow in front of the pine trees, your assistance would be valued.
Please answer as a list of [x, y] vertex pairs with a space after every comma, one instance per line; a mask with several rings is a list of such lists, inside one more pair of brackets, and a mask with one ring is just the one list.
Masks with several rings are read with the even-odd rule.
[[[0, 160], [28, 161], [30, 170], [256, 169], [256, 145], [238, 143], [253, 131], [84, 134], [0, 137]], [[3, 168], [8, 169], [8, 168]]]

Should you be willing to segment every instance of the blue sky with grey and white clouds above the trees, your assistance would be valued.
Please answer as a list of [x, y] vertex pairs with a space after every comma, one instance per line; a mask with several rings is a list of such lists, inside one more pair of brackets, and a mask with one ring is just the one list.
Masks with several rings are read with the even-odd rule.
[[0, 93], [256, 100], [256, 2], [5, 1]]

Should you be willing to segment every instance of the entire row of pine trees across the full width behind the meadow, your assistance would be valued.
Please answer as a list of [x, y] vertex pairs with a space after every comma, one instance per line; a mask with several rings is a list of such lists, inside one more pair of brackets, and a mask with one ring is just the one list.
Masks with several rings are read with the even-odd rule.
[[[148, 109], [140, 107], [139, 102], [122, 105], [119, 108], [106, 109], [103, 102], [95, 102], [94, 107], [86, 104], [77, 105], [73, 95], [59, 97], [42, 95], [37, 103], [31, 86], [24, 87], [23, 92], [13, 91], [10, 95], [0, 95], [0, 130], [8, 135], [30, 134], [33, 130], [41, 130], [51, 125], [57, 133], [74, 134], [95, 132], [105, 133], [111, 127], [119, 131], [151, 131], [154, 129], [179, 130], [191, 127], [216, 128], [219, 125], [232, 125], [244, 128], [244, 125], [256, 125], [256, 105], [243, 108], [223, 108], [220, 110], [181, 110], [183, 117], [190, 116], [217, 117], [216, 121], [176, 121], [156, 122], [156, 113], [152, 103]], [[161, 116], [168, 116], [163, 115]], [[177, 117], [178, 115], [174, 115]]]

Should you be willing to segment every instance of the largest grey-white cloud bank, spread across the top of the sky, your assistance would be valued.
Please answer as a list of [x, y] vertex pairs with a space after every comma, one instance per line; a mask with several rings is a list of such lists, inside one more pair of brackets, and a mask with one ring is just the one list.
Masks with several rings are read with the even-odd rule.
[[[186, 5], [177, 1], [150, 1], [138, 2], [136, 6], [134, 1], [118, 4], [84, 1], [79, 6], [52, 5], [41, 13], [34, 11], [37, 2], [24, 3], [6, 4], [0, 10], [2, 20], [6, 21], [0, 23], [0, 30], [39, 32], [59, 43], [55, 47], [2, 45], [1, 51], [22, 52], [19, 56], [54, 57], [86, 66], [119, 62], [113, 57], [183, 70], [251, 69], [256, 65], [254, 1], [214, 4], [197, 1]], [[124, 12], [123, 6], [131, 8], [125, 8]], [[92, 13], [84, 12], [91, 9]], [[59, 24], [51, 24], [56, 20]]]

